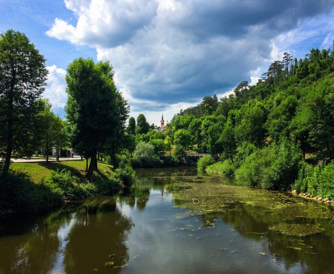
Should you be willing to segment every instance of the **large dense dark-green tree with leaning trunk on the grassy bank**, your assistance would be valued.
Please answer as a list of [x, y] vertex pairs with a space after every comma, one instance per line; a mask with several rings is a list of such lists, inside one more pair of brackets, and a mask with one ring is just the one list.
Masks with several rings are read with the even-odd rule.
[[67, 66], [65, 77], [68, 94], [65, 111], [69, 121], [70, 141], [76, 151], [91, 163], [87, 178], [93, 177], [97, 152], [103, 143], [115, 141], [128, 118], [129, 107], [117, 90], [113, 66], [93, 59], [74, 59]]

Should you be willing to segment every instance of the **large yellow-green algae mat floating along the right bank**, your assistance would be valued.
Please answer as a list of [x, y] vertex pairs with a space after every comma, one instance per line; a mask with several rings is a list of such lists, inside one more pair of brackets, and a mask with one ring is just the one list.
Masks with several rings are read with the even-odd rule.
[[327, 205], [304, 200], [280, 191], [268, 191], [251, 187], [234, 186], [226, 177], [206, 177], [201, 180], [183, 180], [172, 184], [175, 205], [188, 208], [191, 214], [213, 212], [228, 213], [229, 205], [240, 202], [261, 207], [264, 214], [270, 213], [272, 223], [276, 220], [296, 218], [334, 218], [333, 209]]

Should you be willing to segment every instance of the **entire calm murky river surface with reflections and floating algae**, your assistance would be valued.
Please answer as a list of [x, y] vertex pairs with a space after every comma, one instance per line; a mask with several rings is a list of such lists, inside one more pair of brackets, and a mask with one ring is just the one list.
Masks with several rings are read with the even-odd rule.
[[[195, 177], [197, 176], [197, 177]], [[0, 273], [332, 273], [334, 211], [191, 168], [0, 224]]]

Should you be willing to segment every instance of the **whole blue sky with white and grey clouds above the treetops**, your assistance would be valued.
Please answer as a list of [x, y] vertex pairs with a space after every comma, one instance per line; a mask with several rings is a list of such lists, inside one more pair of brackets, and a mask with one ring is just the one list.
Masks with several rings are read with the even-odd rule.
[[23, 32], [47, 59], [44, 97], [64, 118], [66, 67], [109, 60], [130, 105], [160, 125], [205, 96], [256, 84], [289, 52], [333, 49], [333, 0], [0, 0], [0, 32]]

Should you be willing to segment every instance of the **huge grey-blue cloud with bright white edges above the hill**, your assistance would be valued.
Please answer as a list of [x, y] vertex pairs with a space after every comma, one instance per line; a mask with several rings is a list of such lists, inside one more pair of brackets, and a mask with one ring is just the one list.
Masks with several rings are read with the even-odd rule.
[[250, 71], [288, 50], [276, 49], [277, 37], [334, 8], [332, 0], [66, 3], [77, 24], [58, 19], [48, 35], [96, 47], [132, 108], [143, 110], [195, 103], [251, 81]]

